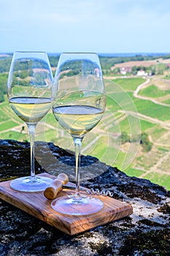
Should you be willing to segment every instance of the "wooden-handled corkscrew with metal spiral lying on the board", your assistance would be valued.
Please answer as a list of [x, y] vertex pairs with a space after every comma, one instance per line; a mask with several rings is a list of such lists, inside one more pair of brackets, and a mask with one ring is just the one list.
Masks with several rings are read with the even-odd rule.
[[[57, 178], [50, 184], [49, 187], [45, 189], [44, 195], [47, 199], [54, 199], [58, 192], [60, 192], [62, 189], [76, 189], [74, 186], [66, 185], [69, 181], [69, 177], [65, 173], [61, 173], [58, 175]], [[102, 196], [109, 196], [112, 197], [113, 193], [109, 191], [108, 189], [86, 189], [85, 187], [80, 187], [80, 190], [86, 192], [88, 195], [102, 195]]]

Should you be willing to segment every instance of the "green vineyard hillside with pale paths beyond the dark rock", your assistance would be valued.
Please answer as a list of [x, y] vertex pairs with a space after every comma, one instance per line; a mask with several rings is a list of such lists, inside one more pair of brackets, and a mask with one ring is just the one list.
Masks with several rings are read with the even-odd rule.
[[[104, 72], [107, 110], [101, 123], [86, 135], [82, 154], [93, 155], [130, 176], [148, 178], [170, 189], [170, 59], [128, 61], [114, 66], [109, 61], [107, 72]], [[129, 67], [132, 63], [131, 67], [139, 65], [147, 69], [161, 64], [161, 75], [115, 74], [117, 67]], [[148, 63], [152, 63], [151, 66]], [[0, 74], [1, 88], [6, 83], [7, 73], [3, 72]], [[4, 91], [2, 94], [5, 101], [0, 104], [0, 138], [28, 140], [26, 124], [9, 108]], [[36, 140], [52, 141], [74, 151], [72, 139], [58, 127], [52, 113], [37, 125]]]

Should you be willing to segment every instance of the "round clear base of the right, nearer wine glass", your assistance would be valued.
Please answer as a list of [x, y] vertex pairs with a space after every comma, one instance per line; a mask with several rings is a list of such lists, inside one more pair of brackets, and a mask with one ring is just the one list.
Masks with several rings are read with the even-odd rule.
[[96, 197], [80, 197], [74, 195], [59, 197], [51, 203], [53, 210], [61, 214], [88, 215], [94, 214], [103, 208], [104, 204]]

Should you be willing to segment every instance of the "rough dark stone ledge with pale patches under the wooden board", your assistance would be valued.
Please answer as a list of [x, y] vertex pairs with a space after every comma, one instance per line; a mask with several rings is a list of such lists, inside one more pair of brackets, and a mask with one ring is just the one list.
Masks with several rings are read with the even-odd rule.
[[[29, 175], [28, 143], [0, 140], [0, 156], [0, 181]], [[116, 199], [131, 203], [134, 213], [68, 236], [0, 200], [1, 256], [170, 255], [169, 191], [150, 181], [126, 176], [93, 157], [82, 157], [81, 169], [84, 186], [111, 190]], [[73, 178], [74, 155], [53, 143], [36, 143], [36, 173], [44, 171], [55, 175], [65, 172]]]

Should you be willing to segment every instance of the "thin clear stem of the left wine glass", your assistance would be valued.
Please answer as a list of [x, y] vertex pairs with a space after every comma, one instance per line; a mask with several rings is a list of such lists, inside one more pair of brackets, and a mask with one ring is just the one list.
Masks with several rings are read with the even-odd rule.
[[35, 178], [35, 163], [34, 163], [34, 138], [36, 124], [27, 124], [29, 130], [30, 149], [31, 149], [31, 179]]

